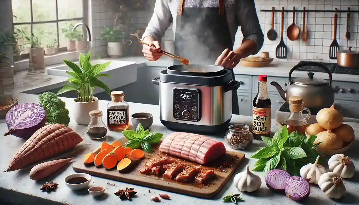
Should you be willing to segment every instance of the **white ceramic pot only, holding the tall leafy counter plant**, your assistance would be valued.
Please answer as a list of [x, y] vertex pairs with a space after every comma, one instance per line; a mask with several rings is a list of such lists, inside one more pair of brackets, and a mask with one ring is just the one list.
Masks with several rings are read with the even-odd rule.
[[79, 125], [88, 125], [90, 123], [90, 111], [98, 110], [98, 98], [93, 97], [92, 102], [79, 103], [78, 98], [74, 99], [74, 119]]

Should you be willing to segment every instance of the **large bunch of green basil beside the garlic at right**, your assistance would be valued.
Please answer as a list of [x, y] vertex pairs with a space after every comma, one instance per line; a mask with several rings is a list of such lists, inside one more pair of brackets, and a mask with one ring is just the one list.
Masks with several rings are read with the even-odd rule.
[[281, 169], [292, 176], [298, 176], [299, 170], [308, 163], [314, 163], [318, 155], [314, 148], [320, 143], [313, 144], [317, 136], [308, 138], [299, 132], [288, 134], [288, 129], [283, 126], [276, 132], [273, 138], [262, 137], [268, 147], [256, 151], [251, 158], [258, 159], [253, 171], [269, 172], [273, 169]]

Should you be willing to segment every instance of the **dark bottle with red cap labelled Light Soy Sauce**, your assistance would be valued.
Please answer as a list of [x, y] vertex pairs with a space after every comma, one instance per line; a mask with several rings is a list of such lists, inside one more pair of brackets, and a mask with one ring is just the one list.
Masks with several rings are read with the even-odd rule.
[[272, 103], [267, 93], [267, 76], [258, 76], [258, 93], [253, 99], [253, 137], [261, 140], [262, 136], [270, 137]]

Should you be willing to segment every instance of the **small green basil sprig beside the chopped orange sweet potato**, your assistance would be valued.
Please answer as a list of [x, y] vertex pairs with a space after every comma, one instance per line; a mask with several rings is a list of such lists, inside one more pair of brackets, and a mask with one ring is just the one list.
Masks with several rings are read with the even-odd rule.
[[141, 146], [143, 151], [148, 153], [152, 153], [152, 144], [158, 143], [163, 137], [162, 133], [150, 132], [149, 129], [144, 130], [141, 123], [137, 125], [136, 131], [123, 130], [122, 133], [128, 139], [125, 147], [136, 149]]

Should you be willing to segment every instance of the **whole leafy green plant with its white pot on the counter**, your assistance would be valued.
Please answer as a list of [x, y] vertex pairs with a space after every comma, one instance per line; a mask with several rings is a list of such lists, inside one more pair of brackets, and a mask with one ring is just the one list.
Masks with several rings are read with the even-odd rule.
[[69, 84], [64, 85], [59, 92], [57, 92], [57, 95], [60, 95], [70, 90], [77, 91], [78, 97], [74, 99], [74, 118], [79, 125], [88, 125], [90, 123], [89, 112], [98, 110], [98, 98], [93, 96], [94, 88], [100, 87], [110, 94], [108, 86], [97, 78], [100, 76], [111, 77], [110, 75], [101, 73], [111, 61], [91, 65], [90, 55], [90, 52], [88, 52], [86, 56], [80, 53], [80, 65], [64, 60], [66, 65], [72, 70], [67, 71], [71, 77], [68, 79]]

